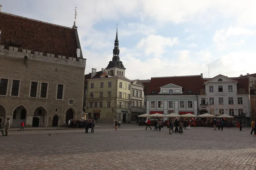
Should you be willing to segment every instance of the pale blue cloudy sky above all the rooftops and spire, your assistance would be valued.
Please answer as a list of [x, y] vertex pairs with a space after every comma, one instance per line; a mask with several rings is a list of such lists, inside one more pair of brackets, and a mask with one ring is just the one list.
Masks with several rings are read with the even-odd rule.
[[0, 0], [2, 11], [73, 26], [85, 74], [112, 59], [118, 23], [129, 79], [256, 73], [256, 0]]

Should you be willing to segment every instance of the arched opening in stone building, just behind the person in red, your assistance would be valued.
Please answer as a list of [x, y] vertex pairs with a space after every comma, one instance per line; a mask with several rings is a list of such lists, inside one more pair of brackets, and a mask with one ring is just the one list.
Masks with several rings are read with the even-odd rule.
[[13, 116], [12, 116], [12, 127], [20, 127], [21, 122], [25, 122], [26, 126], [26, 109], [24, 106], [18, 106], [15, 108], [13, 111]]

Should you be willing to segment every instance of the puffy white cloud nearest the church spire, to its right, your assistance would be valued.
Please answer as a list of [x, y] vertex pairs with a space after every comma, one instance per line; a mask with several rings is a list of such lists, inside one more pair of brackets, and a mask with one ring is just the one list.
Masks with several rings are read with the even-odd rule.
[[137, 48], [145, 50], [145, 55], [154, 54], [155, 57], [161, 57], [167, 47], [178, 45], [178, 38], [162, 37], [160, 35], [149, 35], [140, 40]]

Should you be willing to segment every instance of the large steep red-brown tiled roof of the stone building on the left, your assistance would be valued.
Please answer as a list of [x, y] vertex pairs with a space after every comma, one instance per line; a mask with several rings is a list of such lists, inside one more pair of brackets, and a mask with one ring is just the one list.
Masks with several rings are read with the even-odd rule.
[[13, 14], [0, 12], [0, 44], [23, 49], [76, 57], [75, 29], [32, 20]]

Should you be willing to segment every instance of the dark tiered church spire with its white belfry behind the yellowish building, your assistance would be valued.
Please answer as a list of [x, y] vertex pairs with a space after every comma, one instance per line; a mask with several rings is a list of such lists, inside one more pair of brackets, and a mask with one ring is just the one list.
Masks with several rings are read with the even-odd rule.
[[119, 40], [118, 40], [117, 26], [116, 26], [116, 40], [115, 40], [115, 43], [114, 43], [112, 61], [110, 61], [108, 63], [108, 67], [105, 68], [105, 71], [110, 76], [115, 76], [115, 75], [125, 76], [125, 69], [126, 68], [122, 64], [122, 61], [120, 61], [119, 53], [120, 53], [120, 51], [119, 51]]

